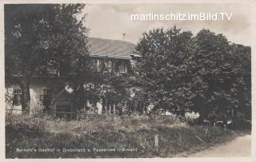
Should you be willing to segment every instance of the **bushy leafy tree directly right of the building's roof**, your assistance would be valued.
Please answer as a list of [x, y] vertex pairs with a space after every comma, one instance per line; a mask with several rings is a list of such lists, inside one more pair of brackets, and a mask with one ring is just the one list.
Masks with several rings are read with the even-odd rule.
[[181, 113], [192, 106], [192, 99], [202, 95], [204, 83], [195, 75], [193, 34], [180, 32], [176, 26], [166, 31], [150, 30], [143, 34], [137, 48], [142, 64], [137, 73], [142, 77], [143, 98], [154, 109]]

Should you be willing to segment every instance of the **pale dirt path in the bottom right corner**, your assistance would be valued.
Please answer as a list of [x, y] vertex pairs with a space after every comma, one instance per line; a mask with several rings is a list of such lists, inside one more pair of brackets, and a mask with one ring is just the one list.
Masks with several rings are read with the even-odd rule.
[[228, 143], [191, 154], [189, 157], [250, 156], [250, 142], [251, 135], [238, 136]]

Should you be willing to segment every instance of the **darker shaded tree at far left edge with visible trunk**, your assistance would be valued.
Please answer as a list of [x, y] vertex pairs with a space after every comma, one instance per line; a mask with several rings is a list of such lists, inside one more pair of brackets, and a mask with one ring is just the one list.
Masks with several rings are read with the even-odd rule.
[[29, 107], [30, 77], [37, 65], [43, 64], [39, 59], [42, 52], [41, 38], [46, 24], [44, 16], [50, 12], [47, 6], [5, 6], [5, 49], [6, 77], [15, 77], [22, 89], [22, 109]]

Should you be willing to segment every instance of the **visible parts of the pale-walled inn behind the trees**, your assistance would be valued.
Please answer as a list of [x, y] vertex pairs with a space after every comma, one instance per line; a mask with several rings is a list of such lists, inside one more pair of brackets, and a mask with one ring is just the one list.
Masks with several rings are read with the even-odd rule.
[[[104, 65], [106, 71], [112, 73], [129, 73], [130, 67], [138, 64], [141, 57], [135, 53], [135, 45], [126, 41], [102, 38], [89, 38], [90, 57], [96, 65]], [[38, 111], [62, 117], [77, 113], [77, 105], [72, 101], [72, 93], [68, 86], [60, 84], [58, 71], [51, 69], [47, 75], [34, 76], [30, 81], [30, 114]], [[130, 89], [139, 89], [134, 86]], [[132, 91], [132, 90], [131, 90]], [[6, 113], [22, 113], [22, 90], [12, 81], [6, 81]], [[96, 104], [95, 113], [116, 113], [117, 105], [102, 102]], [[89, 99], [85, 98], [85, 106], [90, 107]], [[105, 111], [104, 111], [105, 110]]]

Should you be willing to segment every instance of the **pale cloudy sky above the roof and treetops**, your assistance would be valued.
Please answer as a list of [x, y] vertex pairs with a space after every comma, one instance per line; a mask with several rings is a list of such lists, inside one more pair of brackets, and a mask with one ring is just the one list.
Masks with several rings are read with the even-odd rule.
[[[232, 13], [230, 21], [130, 21], [130, 14], [170, 13]], [[251, 45], [250, 4], [88, 4], [85, 26], [90, 28], [89, 37], [122, 40], [136, 44], [144, 32], [174, 25], [182, 31], [197, 34], [203, 28], [224, 34], [229, 41]]]

